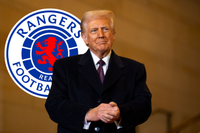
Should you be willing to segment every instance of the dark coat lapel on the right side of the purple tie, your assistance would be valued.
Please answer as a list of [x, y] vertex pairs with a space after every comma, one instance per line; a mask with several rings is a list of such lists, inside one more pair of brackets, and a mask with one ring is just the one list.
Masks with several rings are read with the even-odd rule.
[[109, 61], [108, 70], [106, 72], [102, 93], [112, 86], [124, 74], [124, 64], [121, 59], [112, 51]]

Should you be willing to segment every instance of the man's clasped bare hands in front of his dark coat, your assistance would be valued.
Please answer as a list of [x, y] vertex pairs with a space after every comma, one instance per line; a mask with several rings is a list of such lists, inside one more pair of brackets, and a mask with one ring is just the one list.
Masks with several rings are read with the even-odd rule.
[[105, 123], [113, 123], [120, 119], [120, 110], [115, 102], [108, 104], [101, 103], [99, 106], [91, 109], [86, 114], [86, 120], [91, 121], [103, 121]]

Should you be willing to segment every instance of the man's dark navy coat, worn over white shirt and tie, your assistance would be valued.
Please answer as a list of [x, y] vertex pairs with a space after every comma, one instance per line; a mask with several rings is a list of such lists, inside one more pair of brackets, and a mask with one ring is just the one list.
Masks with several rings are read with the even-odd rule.
[[[83, 130], [88, 110], [111, 101], [120, 109], [123, 128], [98, 121], [92, 122], [89, 130]], [[58, 133], [134, 133], [135, 127], [151, 114], [145, 67], [112, 51], [101, 84], [89, 50], [83, 55], [57, 60], [45, 107], [50, 118], [58, 123]]]

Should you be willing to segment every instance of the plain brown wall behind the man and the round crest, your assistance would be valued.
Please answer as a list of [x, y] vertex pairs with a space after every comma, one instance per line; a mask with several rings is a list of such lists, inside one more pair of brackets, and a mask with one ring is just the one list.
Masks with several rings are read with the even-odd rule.
[[[0, 133], [56, 132], [45, 100], [17, 87], [4, 63], [4, 46], [12, 27], [41, 8], [66, 10], [80, 19], [88, 10], [112, 10], [117, 30], [113, 49], [145, 64], [153, 110], [172, 112], [172, 126], [200, 112], [198, 0], [0, 0]], [[138, 132], [165, 132], [165, 127], [157, 128], [158, 123], [165, 126], [164, 116], [151, 116]], [[185, 133], [200, 131], [199, 127]]]

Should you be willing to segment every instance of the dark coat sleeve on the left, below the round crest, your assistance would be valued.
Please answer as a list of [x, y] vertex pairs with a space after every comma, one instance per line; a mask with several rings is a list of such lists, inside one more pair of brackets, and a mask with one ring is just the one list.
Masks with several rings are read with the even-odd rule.
[[81, 132], [89, 107], [69, 100], [67, 75], [59, 61], [54, 63], [52, 87], [45, 107], [50, 118], [66, 129]]

